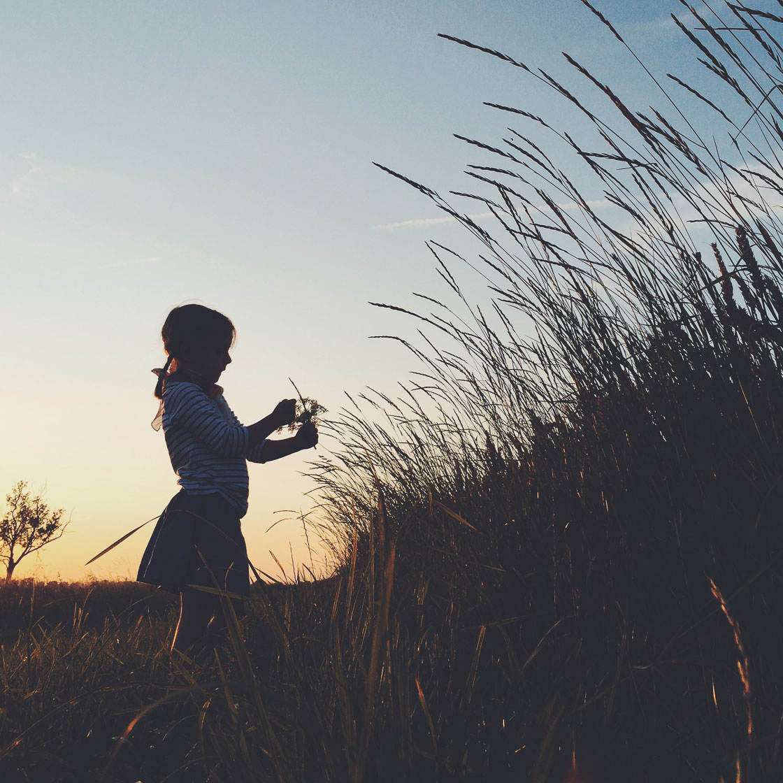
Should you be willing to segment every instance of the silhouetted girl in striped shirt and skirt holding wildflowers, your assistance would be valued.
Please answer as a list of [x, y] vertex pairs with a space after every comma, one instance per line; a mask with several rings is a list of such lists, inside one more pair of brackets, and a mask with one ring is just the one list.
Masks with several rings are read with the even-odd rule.
[[[153, 428], [163, 424], [171, 467], [182, 487], [158, 519], [136, 579], [179, 592], [181, 610], [172, 651], [207, 651], [223, 637], [220, 598], [190, 585], [247, 596], [247, 549], [240, 519], [247, 511], [247, 461], [269, 462], [318, 442], [315, 424], [292, 438], [268, 440], [294, 421], [296, 401], [284, 399], [269, 416], [244, 427], [223, 399], [218, 378], [231, 362], [236, 330], [216, 310], [182, 305], [161, 330], [168, 355], [157, 374], [161, 400]], [[244, 616], [241, 601], [234, 601]], [[201, 649], [192, 649], [192, 648]]]

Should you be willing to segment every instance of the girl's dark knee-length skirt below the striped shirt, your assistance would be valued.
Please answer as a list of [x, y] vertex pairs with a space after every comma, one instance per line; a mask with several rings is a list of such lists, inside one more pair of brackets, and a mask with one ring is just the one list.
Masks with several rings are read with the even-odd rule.
[[173, 592], [203, 585], [247, 595], [247, 547], [236, 509], [220, 495], [180, 490], [157, 521], [136, 580]]

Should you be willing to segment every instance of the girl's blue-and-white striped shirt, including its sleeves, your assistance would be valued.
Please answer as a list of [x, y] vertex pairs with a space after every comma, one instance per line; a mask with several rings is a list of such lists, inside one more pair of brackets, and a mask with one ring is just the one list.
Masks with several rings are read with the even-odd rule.
[[241, 517], [247, 512], [247, 460], [264, 462], [264, 442], [226, 405], [222, 393], [207, 395], [187, 381], [164, 384], [163, 431], [177, 483], [191, 495], [218, 493]]

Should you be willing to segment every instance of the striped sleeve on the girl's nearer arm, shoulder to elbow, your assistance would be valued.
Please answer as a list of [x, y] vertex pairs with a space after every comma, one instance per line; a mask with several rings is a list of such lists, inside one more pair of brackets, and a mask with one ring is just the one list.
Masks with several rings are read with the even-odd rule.
[[197, 384], [171, 384], [164, 395], [164, 410], [172, 424], [185, 428], [220, 456], [247, 458], [251, 450], [247, 427], [222, 417]]

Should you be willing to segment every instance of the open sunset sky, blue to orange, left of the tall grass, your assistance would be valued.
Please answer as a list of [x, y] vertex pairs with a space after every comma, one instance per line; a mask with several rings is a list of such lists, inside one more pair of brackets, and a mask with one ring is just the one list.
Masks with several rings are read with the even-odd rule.
[[[600, 8], [659, 74], [693, 67], [669, 20], [679, 3]], [[221, 383], [247, 424], [293, 396], [289, 377], [332, 412], [344, 391], [406, 379], [410, 355], [370, 336], [411, 325], [368, 302], [437, 296], [424, 243], [460, 247], [464, 229], [373, 161], [448, 193], [481, 161], [453, 134], [493, 143], [509, 122], [482, 102], [568, 111], [521, 70], [438, 33], [570, 84], [565, 49], [622, 94], [650, 90], [576, 0], [0, 9], [0, 493], [26, 480], [70, 516], [16, 576], [135, 577], [152, 525], [84, 564], [177, 491], [150, 427], [172, 307], [197, 301], [233, 320]], [[481, 285], [467, 280], [477, 296]], [[251, 560], [276, 576], [270, 550], [288, 577], [310, 563], [301, 521], [275, 513], [310, 507], [309, 456], [250, 467], [243, 529]]]

